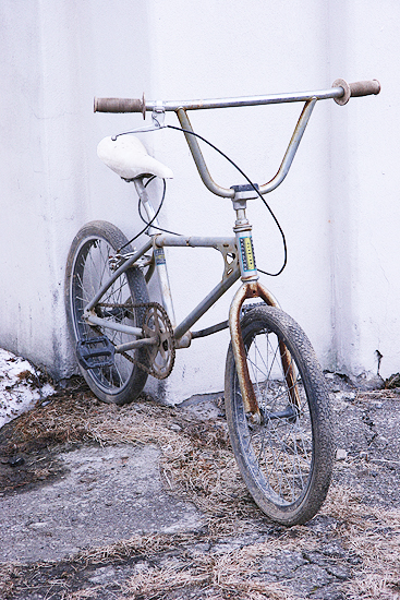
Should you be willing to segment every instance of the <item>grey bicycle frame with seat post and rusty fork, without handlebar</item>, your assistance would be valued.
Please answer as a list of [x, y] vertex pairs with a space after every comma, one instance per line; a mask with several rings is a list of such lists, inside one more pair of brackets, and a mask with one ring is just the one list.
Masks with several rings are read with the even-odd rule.
[[[148, 199], [146, 188], [143, 184], [143, 180], [138, 178], [135, 180], [136, 191], [141, 196], [144, 208], [146, 211], [149, 220], [154, 218], [155, 211]], [[105, 284], [101, 289], [98, 290], [96, 296], [86, 305], [83, 319], [92, 324], [120, 331], [125, 334], [131, 334], [136, 339], [121, 346], [117, 346], [114, 351], [125, 352], [128, 350], [138, 348], [144, 345], [156, 345], [156, 338], [143, 338], [143, 332], [138, 327], [131, 327], [114, 322], [109, 322], [96, 315], [95, 307], [100, 301], [101, 297], [107, 292], [111, 285], [118, 279], [118, 277], [128, 271], [130, 267], [138, 263], [138, 261], [145, 256], [146, 252], [153, 249], [153, 257], [155, 261], [155, 268], [157, 269], [160, 295], [165, 309], [168, 312], [170, 321], [173, 326], [173, 338], [177, 348], [186, 348], [191, 345], [193, 338], [204, 337], [211, 335], [222, 328], [228, 327], [228, 321], [219, 323], [207, 329], [192, 333], [191, 327], [208, 311], [208, 309], [219, 299], [223, 293], [230, 289], [235, 281], [241, 277], [243, 285], [237, 292], [231, 303], [229, 312], [229, 327], [231, 332], [232, 347], [235, 353], [237, 368], [240, 381], [243, 382], [243, 399], [246, 412], [253, 415], [255, 420], [259, 420], [258, 405], [255, 399], [254, 389], [251, 385], [249, 370], [245, 360], [245, 349], [240, 332], [240, 311], [245, 299], [249, 298], [262, 298], [267, 304], [276, 305], [271, 295], [258, 283], [258, 275], [255, 267], [255, 257], [253, 251], [253, 241], [251, 236], [252, 226], [245, 217], [245, 204], [246, 199], [243, 192], [238, 192], [239, 199], [234, 202], [234, 208], [237, 212], [235, 227], [233, 228], [235, 237], [230, 238], [217, 238], [217, 237], [185, 237], [174, 236], [168, 233], [157, 232], [157, 219], [154, 219], [154, 226], [148, 231], [151, 235], [151, 239], [147, 241], [138, 251], [134, 252], [128, 257], [121, 256], [122, 264], [117, 268], [112, 277]], [[237, 195], [238, 195], [237, 194]], [[221, 281], [197, 304], [197, 307], [180, 323], [175, 324], [172, 296], [168, 279], [167, 261], [163, 252], [163, 248], [214, 248], [219, 250], [223, 256], [223, 275]], [[287, 356], [284, 347], [280, 348], [281, 358], [284, 365], [284, 372], [288, 377], [289, 388], [292, 389], [293, 403], [296, 403], [296, 392], [294, 386], [294, 377], [290, 368], [290, 359]], [[237, 358], [238, 353], [238, 358]]]

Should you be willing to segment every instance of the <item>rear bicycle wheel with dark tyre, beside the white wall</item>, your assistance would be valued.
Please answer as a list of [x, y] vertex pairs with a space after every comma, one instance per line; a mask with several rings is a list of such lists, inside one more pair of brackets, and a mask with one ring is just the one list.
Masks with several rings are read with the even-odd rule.
[[[128, 243], [125, 236], [113, 225], [93, 221], [85, 225], [72, 242], [66, 262], [65, 308], [70, 332], [76, 345], [99, 347], [90, 341], [108, 338], [112, 346], [126, 344], [132, 335], [92, 326], [82, 319], [84, 309], [118, 266], [117, 251]], [[121, 253], [132, 252], [126, 245]], [[142, 327], [145, 307], [132, 304], [148, 302], [147, 286], [138, 267], [129, 268], [112, 284], [95, 307], [97, 316], [119, 325]], [[105, 362], [105, 361], [104, 361]], [[145, 349], [114, 353], [111, 364], [85, 369], [83, 376], [96, 396], [106, 403], [123, 405], [134, 400], [146, 380], [148, 356]], [[138, 365], [141, 364], [142, 368]], [[144, 367], [144, 368], [143, 368]]]

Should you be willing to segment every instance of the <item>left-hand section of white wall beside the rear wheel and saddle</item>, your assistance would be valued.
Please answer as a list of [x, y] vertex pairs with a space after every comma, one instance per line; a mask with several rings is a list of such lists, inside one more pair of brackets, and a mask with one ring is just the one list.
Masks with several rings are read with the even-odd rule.
[[87, 220], [126, 220], [128, 190], [96, 157], [112, 123], [93, 113], [93, 96], [137, 95], [147, 84], [147, 9], [5, 0], [0, 11], [0, 345], [64, 376], [73, 367], [63, 308], [71, 240]]

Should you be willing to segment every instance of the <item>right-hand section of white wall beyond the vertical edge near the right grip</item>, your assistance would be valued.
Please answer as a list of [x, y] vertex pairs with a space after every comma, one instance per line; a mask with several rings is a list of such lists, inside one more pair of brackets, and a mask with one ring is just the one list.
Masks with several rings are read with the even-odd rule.
[[378, 350], [384, 377], [400, 370], [399, 21], [395, 1], [331, 3], [331, 68], [349, 81], [381, 82], [378, 97], [355, 98], [332, 121], [337, 368], [376, 373]]

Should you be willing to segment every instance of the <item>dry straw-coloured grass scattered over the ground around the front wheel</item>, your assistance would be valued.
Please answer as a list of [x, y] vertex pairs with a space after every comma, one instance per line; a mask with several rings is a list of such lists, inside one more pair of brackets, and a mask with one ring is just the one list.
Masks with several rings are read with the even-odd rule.
[[[50, 440], [94, 441], [101, 445], [156, 443], [162, 455], [160, 470], [166, 489], [190, 499], [205, 514], [208, 540], [252, 532], [263, 524], [268, 525], [242, 483], [221, 420], [197, 421], [184, 411], [151, 401], [117, 408], [77, 393], [68, 399], [56, 398], [21, 417], [10, 444], [15, 440], [26, 447], [35, 441], [48, 444]], [[399, 600], [400, 511], [365, 506], [353, 490], [336, 485], [320, 514], [336, 519], [330, 541], [338, 540], [349, 554], [363, 561], [352, 567], [353, 578], [342, 584], [347, 598]], [[291, 595], [283, 585], [262, 581], [259, 560], [279, 556], [282, 551], [318, 551], [323, 537], [310, 526], [281, 528], [279, 535], [263, 543], [219, 555], [204, 550], [182, 551], [196, 547], [195, 536], [153, 535], [93, 549], [77, 560], [98, 564], [137, 557], [135, 575], [125, 581], [121, 596], [130, 600], [163, 598], [181, 588], [207, 590], [208, 600], [291, 600], [299, 596]], [[179, 557], [169, 555], [173, 549], [181, 550]], [[65, 595], [65, 600], [96, 598], [95, 589]]]

